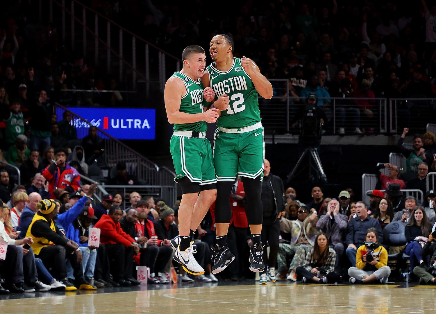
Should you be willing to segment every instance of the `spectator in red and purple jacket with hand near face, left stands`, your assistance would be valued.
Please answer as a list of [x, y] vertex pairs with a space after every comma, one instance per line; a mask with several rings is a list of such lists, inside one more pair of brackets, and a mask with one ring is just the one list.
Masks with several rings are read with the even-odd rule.
[[80, 177], [76, 169], [68, 165], [68, 151], [65, 148], [58, 148], [54, 151], [56, 162], [48, 165], [42, 170], [42, 175], [48, 181], [49, 198], [53, 198], [53, 190], [66, 189], [71, 186], [75, 191], [80, 189]]

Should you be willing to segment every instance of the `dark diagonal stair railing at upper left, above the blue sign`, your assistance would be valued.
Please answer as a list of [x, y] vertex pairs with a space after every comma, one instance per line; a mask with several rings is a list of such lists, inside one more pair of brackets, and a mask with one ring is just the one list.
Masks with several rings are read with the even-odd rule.
[[[140, 78], [146, 84], [147, 96], [152, 84], [164, 91], [167, 61], [174, 62], [176, 71], [181, 69], [179, 58], [77, 0], [38, 0], [38, 5], [40, 22], [48, 20], [57, 24], [62, 41], [66, 43], [69, 39], [73, 51], [80, 44], [85, 57], [93, 58], [96, 65], [106, 63], [107, 73], [117, 71], [119, 81], [129, 78], [133, 89]], [[139, 71], [140, 68], [144, 71]], [[152, 73], [157, 73], [158, 77], [152, 78]]]

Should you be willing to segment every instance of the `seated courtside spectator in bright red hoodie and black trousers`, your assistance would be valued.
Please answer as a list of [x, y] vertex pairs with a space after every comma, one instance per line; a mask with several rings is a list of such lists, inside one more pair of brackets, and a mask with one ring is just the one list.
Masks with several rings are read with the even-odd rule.
[[118, 205], [112, 205], [109, 215], [103, 215], [95, 224], [95, 228], [101, 230], [100, 243], [106, 246], [114, 281], [128, 287], [140, 284], [132, 278], [133, 255], [139, 253], [139, 246], [121, 229], [119, 221], [122, 216], [123, 210]]

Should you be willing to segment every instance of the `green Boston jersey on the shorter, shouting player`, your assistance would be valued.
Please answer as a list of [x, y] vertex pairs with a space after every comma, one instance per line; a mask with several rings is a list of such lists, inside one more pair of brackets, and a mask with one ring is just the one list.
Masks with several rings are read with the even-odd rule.
[[[190, 114], [204, 112], [203, 84], [201, 84], [200, 79], [194, 81], [182, 72], [175, 72], [173, 76], [180, 78], [185, 83], [186, 87], [186, 93], [182, 96], [179, 111]], [[207, 129], [208, 126], [204, 121], [180, 124], [174, 123], [174, 131], [206, 132]]]

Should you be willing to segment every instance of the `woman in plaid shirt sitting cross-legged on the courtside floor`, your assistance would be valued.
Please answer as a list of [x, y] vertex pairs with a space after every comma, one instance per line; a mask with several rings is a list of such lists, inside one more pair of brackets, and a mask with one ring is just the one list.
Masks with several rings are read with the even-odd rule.
[[341, 276], [334, 272], [335, 262], [336, 252], [328, 246], [327, 236], [320, 233], [315, 239], [313, 249], [307, 253], [303, 266], [297, 267], [296, 273], [303, 277], [303, 283], [340, 282]]

